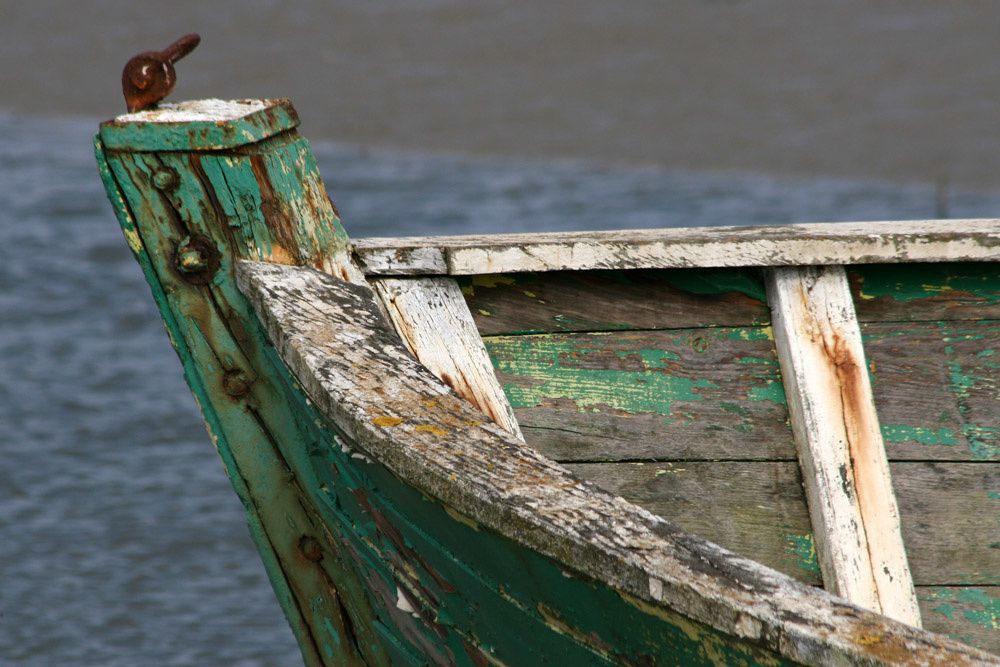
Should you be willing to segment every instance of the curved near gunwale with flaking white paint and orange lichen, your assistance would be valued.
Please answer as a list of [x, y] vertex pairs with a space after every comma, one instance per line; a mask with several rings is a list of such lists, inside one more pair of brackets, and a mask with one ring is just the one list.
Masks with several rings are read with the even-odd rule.
[[406, 351], [366, 287], [240, 262], [240, 289], [316, 407], [405, 483], [617, 589], [805, 663], [1000, 664], [860, 609], [583, 482]]

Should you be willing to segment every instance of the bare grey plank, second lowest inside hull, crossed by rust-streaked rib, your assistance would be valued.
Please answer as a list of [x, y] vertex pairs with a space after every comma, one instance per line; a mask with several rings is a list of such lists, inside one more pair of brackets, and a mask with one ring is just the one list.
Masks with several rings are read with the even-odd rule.
[[[798, 466], [790, 461], [570, 463], [583, 479], [689, 532], [810, 584], [820, 583]], [[1000, 470], [890, 464], [917, 586], [1000, 585]], [[993, 495], [991, 495], [991, 493]], [[970, 508], [976, 508], [970, 511]]]

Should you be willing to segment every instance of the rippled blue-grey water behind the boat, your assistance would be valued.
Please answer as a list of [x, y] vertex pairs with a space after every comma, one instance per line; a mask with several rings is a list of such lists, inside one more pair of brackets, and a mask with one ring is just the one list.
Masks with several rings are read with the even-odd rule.
[[[296, 664], [93, 130], [0, 115], [0, 664]], [[315, 149], [356, 237], [935, 210], [925, 186]], [[995, 215], [1000, 197], [949, 206]]]

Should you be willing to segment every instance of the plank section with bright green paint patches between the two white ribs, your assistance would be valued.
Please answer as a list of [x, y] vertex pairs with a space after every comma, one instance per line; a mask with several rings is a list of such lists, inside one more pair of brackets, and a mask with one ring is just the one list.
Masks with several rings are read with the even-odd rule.
[[552, 458], [795, 458], [768, 327], [484, 343], [525, 438]]

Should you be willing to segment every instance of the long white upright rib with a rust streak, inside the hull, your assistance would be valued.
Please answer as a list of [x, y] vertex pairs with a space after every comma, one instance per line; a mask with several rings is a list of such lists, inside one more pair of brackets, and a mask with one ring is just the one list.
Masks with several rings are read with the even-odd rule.
[[919, 625], [844, 270], [774, 269], [768, 297], [823, 581], [848, 600]]

